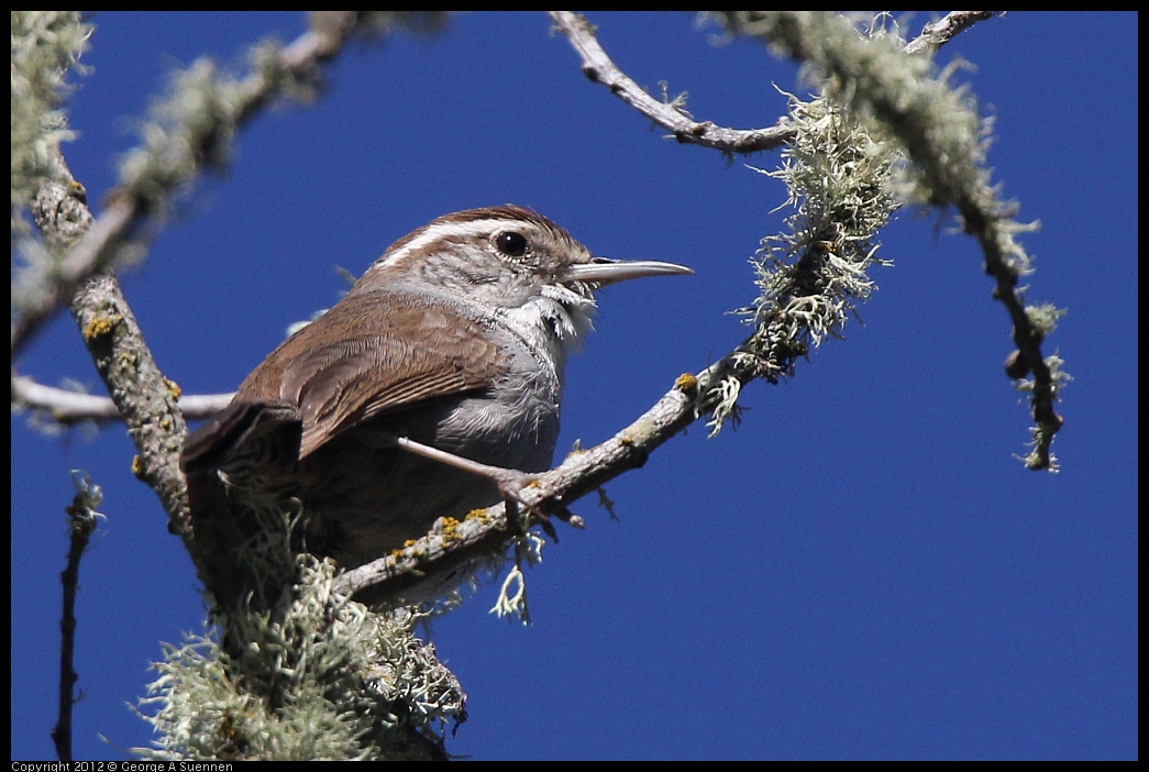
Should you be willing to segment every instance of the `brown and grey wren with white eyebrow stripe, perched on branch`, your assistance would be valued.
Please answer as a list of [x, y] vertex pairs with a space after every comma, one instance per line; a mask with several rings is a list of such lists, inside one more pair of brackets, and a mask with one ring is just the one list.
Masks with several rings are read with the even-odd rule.
[[349, 569], [441, 516], [498, 503], [489, 477], [418, 448], [548, 469], [593, 291], [672, 273], [693, 271], [594, 257], [520, 207], [439, 217], [393, 244], [188, 437], [193, 527], [223, 508], [252, 535], [252, 512], [299, 510], [302, 547]]

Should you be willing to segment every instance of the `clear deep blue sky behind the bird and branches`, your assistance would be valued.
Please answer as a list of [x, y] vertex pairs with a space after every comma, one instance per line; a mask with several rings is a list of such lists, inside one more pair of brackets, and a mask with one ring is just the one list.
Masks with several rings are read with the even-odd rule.
[[[772, 124], [795, 68], [686, 15], [596, 14], [638, 83], [700, 119]], [[925, 16], [912, 22], [919, 29]], [[527, 573], [530, 627], [493, 587], [435, 622], [469, 694], [448, 750], [475, 758], [1132, 758], [1136, 742], [1136, 16], [1010, 14], [947, 46], [996, 116], [1003, 196], [1036, 257], [1030, 299], [1067, 308], [1047, 341], [1074, 380], [1059, 474], [1026, 471], [1028, 416], [1002, 370], [1009, 323], [981, 256], [933, 214], [882, 236], [880, 286], [847, 340], [738, 431], [693, 426], [591, 501]], [[64, 148], [97, 204], [164, 74], [294, 39], [298, 14], [101, 14]], [[354, 45], [314, 106], [239, 138], [123, 286], [186, 393], [233, 389], [292, 322], [330, 306], [431, 218], [514, 202], [597, 254], [696, 276], [611, 287], [568, 370], [560, 449], [610, 437], [745, 334], [748, 258], [780, 185], [680, 146], [589, 83], [539, 14], [456, 17], [438, 38]], [[803, 92], [804, 93], [804, 92]], [[776, 154], [749, 160], [772, 167]], [[17, 362], [102, 391], [60, 315]], [[122, 426], [46, 438], [13, 419], [13, 758], [54, 758], [68, 470], [103, 486], [82, 568], [77, 759], [124, 758], [126, 703], [203, 603]], [[100, 736], [107, 738], [107, 741]]]

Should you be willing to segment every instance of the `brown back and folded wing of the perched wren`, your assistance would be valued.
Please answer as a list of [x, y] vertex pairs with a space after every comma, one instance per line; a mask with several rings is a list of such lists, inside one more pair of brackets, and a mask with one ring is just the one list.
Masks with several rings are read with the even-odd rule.
[[373, 416], [487, 388], [500, 370], [485, 332], [439, 299], [353, 292], [272, 352], [236, 402], [296, 406], [302, 458]]

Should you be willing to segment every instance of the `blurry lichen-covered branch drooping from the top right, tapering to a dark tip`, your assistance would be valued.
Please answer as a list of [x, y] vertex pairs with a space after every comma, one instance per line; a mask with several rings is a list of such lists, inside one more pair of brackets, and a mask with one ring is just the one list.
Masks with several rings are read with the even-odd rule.
[[[969, 91], [949, 85], [950, 71], [934, 77], [931, 62], [905, 55], [896, 37], [859, 36], [836, 14], [731, 11], [720, 18], [731, 32], [759, 38], [803, 62], [807, 77], [824, 84], [828, 98], [895, 141], [910, 161], [904, 193], [961, 215], [963, 227], [981, 246], [995, 296], [1013, 324], [1018, 354], [1009, 375], [1031, 393], [1035, 419], [1025, 463], [1056, 470], [1049, 446], [1063, 419], [1054, 406], [1069, 377], [1061, 371], [1061, 358], [1042, 356], [1041, 342], [1061, 311], [1026, 307], [1018, 294], [1018, 280], [1031, 268], [1015, 236], [1033, 225], [1016, 222], [1016, 207], [996, 196], [986, 167], [987, 126]], [[1033, 379], [1024, 380], [1030, 373]]]

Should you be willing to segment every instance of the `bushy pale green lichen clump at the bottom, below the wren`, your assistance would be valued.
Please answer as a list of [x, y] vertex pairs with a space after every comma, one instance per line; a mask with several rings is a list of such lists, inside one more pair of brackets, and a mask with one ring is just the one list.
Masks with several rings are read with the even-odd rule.
[[165, 646], [140, 700], [154, 759], [378, 759], [442, 755], [465, 695], [418, 617], [334, 594], [336, 569], [299, 558], [299, 581], [267, 612], [223, 613], [218, 631]]

